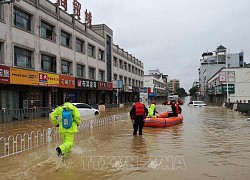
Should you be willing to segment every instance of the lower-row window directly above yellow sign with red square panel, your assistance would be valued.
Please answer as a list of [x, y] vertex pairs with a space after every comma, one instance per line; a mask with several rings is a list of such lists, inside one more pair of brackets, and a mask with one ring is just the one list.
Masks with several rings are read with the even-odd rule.
[[56, 58], [42, 54], [42, 70], [56, 73]]

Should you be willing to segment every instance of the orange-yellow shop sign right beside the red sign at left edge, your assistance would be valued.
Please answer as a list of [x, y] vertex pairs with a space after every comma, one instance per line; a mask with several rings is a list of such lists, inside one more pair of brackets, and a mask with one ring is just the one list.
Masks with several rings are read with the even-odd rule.
[[10, 84], [38, 85], [38, 72], [10, 68]]

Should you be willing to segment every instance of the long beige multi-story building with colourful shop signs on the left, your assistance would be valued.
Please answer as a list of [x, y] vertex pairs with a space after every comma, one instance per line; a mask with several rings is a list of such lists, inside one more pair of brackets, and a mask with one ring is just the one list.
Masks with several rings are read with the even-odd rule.
[[65, 96], [132, 102], [143, 74], [143, 63], [113, 44], [105, 24], [88, 27], [48, 0], [0, 4], [1, 107], [51, 107]]

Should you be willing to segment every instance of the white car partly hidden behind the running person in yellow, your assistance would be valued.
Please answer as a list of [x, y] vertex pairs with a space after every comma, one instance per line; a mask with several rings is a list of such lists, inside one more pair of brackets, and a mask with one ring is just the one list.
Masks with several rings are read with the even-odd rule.
[[[72, 104], [75, 107], [77, 107], [77, 109], [80, 111], [81, 116], [91, 116], [91, 115], [100, 114], [100, 111], [98, 109], [95, 109], [88, 104], [85, 104], [85, 103], [72, 103]], [[52, 109], [52, 112], [53, 111], [54, 111], [54, 109]], [[49, 114], [49, 116], [50, 116], [50, 114]]]

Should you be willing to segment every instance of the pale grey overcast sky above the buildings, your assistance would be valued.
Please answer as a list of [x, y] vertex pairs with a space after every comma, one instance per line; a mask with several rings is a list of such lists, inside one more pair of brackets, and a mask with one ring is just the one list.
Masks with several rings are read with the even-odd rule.
[[[51, 0], [53, 2], [53, 0]], [[68, 0], [68, 12], [72, 13]], [[144, 63], [179, 79], [186, 92], [199, 78], [203, 52], [223, 45], [250, 59], [250, 0], [78, 0], [81, 16], [113, 30], [114, 44]]]

